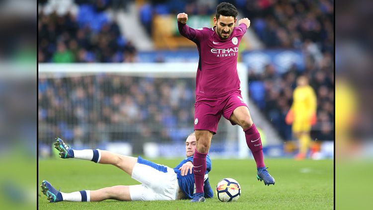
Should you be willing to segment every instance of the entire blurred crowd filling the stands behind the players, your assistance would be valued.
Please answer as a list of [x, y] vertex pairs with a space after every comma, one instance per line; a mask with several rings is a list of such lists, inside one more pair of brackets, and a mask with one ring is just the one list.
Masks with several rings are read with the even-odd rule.
[[[263, 110], [280, 135], [285, 140], [292, 139], [291, 127], [285, 124], [284, 117], [291, 104], [295, 79], [298, 75], [305, 74], [310, 79], [318, 99], [318, 122], [311, 135], [320, 140], [334, 139], [333, 1], [150, 0], [144, 1], [139, 8], [139, 18], [150, 34], [154, 15], [176, 14], [181, 11], [191, 15], [214, 14], [217, 3], [221, 1], [235, 4], [242, 17], [251, 19], [251, 28], [266, 49], [295, 48], [301, 50], [305, 56], [304, 69], [293, 66], [287, 72], [279, 73], [271, 64], [262, 73], [249, 69], [250, 97]], [[56, 12], [44, 14], [41, 11], [38, 14], [38, 61], [135, 62], [136, 48], [123, 37], [117, 23], [109, 20], [105, 13], [108, 7], [126, 9], [125, 4], [115, 6], [115, 3], [120, 2], [126, 1], [75, 0], [79, 5], [76, 15], [71, 12], [63, 15]], [[90, 85], [90, 80], [96, 80], [98, 83]], [[123, 76], [64, 78], [63, 81], [39, 79], [39, 85], [42, 87], [42, 90], [39, 87], [39, 125], [55, 125], [53, 131], [58, 130], [59, 133], [64, 133], [64, 136], [85, 140], [97, 138], [83, 137], [83, 134], [92, 133], [85, 133], [87, 128], [80, 126], [83, 122], [93, 122], [95, 119], [98, 119], [99, 126], [94, 131], [103, 131], [103, 127], [110, 125], [110, 129], [114, 131], [111, 135], [114, 136], [106, 138], [102, 136], [105, 134], [101, 135], [101, 139], [110, 140], [121, 139], [123, 132], [139, 129], [146, 139], [172, 140], [175, 137], [168, 134], [167, 130], [172, 126], [183, 125], [191, 129], [194, 112], [190, 107], [194, 103], [194, 85], [190, 83], [184, 84], [183, 87], [177, 80], [160, 83], [157, 79], [131, 80]], [[68, 95], [70, 90], [65, 91], [68, 86], [61, 87], [64, 83], [72, 85], [71, 95]], [[101, 88], [101, 85], [105, 88]], [[174, 90], [175, 86], [179, 89]], [[96, 90], [100, 90], [99, 94], [94, 94]], [[169, 100], [170, 96], [166, 90], [170, 90], [171, 94], [176, 94], [176, 91], [186, 91], [187, 94], [174, 95], [178, 98], [175, 103]], [[93, 100], [96, 102], [93, 103]], [[99, 112], [87, 114], [88, 110], [92, 109]], [[56, 116], [63, 119], [65, 115], [69, 117], [64, 121], [55, 121]], [[137, 120], [147, 123], [134, 126], [138, 123]], [[66, 125], [69, 123], [75, 125], [74, 129], [67, 129]], [[152, 132], [157, 130], [153, 128], [156, 127], [159, 127], [159, 131], [153, 134]], [[50, 135], [54, 136], [54, 133]]]

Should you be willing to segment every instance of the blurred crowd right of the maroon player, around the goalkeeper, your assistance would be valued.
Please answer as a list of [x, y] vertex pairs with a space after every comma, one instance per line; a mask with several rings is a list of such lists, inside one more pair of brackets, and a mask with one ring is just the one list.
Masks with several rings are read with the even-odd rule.
[[[242, 4], [240, 4], [240, 2]], [[291, 139], [291, 127], [284, 117], [291, 105], [295, 79], [305, 74], [310, 79], [318, 99], [318, 124], [312, 136], [333, 140], [334, 131], [334, 8], [331, 0], [237, 0], [243, 15], [250, 16], [253, 28], [267, 48], [295, 48], [302, 50], [305, 69], [293, 66], [279, 74], [268, 65], [263, 74], [250, 73], [251, 94], [259, 95], [257, 104], [264, 108], [267, 118], [281, 136]], [[253, 83], [252, 83], [253, 82]], [[261, 90], [262, 93], [255, 92]], [[264, 89], [264, 90], [263, 90]], [[255, 100], [255, 99], [254, 99]]]

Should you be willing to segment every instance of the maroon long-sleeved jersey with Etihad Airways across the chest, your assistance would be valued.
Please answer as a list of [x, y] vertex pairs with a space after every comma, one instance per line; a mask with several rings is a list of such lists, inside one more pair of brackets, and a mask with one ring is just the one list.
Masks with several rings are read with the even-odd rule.
[[240, 88], [237, 73], [238, 46], [247, 26], [241, 23], [231, 35], [220, 39], [212, 28], [190, 28], [178, 22], [179, 32], [198, 48], [199, 62], [195, 95], [209, 98], [224, 96]]

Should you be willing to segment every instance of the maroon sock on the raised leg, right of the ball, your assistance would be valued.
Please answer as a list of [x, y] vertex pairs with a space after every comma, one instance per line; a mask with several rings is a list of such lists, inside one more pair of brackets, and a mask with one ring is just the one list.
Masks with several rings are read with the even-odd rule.
[[263, 145], [257, 127], [255, 127], [255, 124], [253, 124], [251, 127], [244, 130], [244, 132], [247, 146], [253, 153], [255, 162], [257, 163], [257, 168], [264, 167]]

